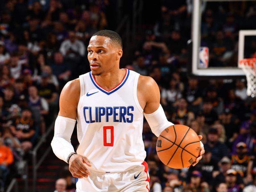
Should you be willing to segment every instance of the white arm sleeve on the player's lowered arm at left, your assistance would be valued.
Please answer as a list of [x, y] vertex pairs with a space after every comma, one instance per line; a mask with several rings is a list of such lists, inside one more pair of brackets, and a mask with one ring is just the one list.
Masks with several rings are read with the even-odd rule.
[[70, 141], [75, 124], [75, 119], [62, 116], [58, 116], [55, 121], [54, 136], [51, 143], [52, 150], [59, 159], [66, 163], [68, 163], [68, 155], [75, 152]]

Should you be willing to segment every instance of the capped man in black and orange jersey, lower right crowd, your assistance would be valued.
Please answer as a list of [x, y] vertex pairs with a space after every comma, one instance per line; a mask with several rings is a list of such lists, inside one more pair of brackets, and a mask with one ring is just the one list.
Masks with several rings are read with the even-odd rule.
[[238, 172], [242, 177], [251, 174], [252, 158], [247, 155], [247, 146], [244, 142], [236, 144], [236, 155], [231, 156], [231, 168]]

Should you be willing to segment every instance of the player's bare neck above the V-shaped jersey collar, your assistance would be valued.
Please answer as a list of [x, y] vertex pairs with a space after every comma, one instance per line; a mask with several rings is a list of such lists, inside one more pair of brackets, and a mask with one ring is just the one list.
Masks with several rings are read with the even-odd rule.
[[111, 90], [116, 85], [120, 84], [126, 73], [126, 69], [118, 69], [102, 74], [100, 76], [94, 76], [96, 82], [104, 89]]

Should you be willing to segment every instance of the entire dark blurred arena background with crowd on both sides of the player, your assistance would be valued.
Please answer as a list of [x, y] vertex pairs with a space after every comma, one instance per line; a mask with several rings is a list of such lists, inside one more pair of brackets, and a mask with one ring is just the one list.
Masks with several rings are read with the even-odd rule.
[[[123, 39], [120, 67], [154, 78], [168, 120], [203, 135], [203, 159], [175, 170], [160, 162], [144, 121], [150, 192], [255, 192], [256, 100], [245, 76], [188, 76], [192, 8], [192, 0], [1, 0], [0, 191], [75, 192], [50, 146], [59, 95], [89, 72], [92, 34], [110, 29]], [[256, 28], [256, 2], [207, 2], [201, 12], [209, 65], [236, 66], [238, 31]], [[255, 38], [245, 52], [256, 52]], [[76, 148], [76, 129], [71, 142]]]

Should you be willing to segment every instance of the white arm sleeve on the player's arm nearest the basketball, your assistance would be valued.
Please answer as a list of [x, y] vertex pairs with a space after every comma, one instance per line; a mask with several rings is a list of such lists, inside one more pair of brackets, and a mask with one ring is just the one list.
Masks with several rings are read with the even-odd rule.
[[159, 105], [159, 108], [151, 114], [144, 113], [144, 116], [156, 137], [159, 137], [160, 133], [164, 131], [165, 128], [173, 125], [173, 123], [167, 120], [162, 105]]

